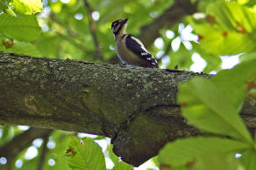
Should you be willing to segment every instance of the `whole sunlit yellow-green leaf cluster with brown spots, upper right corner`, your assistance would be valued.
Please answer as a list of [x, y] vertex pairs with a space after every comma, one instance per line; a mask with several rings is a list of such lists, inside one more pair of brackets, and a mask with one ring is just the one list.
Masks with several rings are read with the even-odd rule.
[[204, 51], [210, 55], [231, 55], [255, 51], [256, 13], [233, 2], [214, 2], [204, 19], [189, 17]]

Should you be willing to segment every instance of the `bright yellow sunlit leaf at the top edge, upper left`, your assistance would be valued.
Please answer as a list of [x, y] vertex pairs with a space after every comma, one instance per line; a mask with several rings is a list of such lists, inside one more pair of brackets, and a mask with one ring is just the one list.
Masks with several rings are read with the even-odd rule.
[[32, 15], [42, 11], [41, 0], [13, 0], [13, 8], [21, 14]]

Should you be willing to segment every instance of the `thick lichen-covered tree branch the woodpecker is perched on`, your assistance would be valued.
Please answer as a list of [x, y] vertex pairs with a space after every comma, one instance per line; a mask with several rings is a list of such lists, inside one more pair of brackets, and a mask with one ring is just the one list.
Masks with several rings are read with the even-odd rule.
[[[191, 71], [32, 58], [0, 52], [0, 124], [39, 126], [111, 138], [137, 167], [168, 141], [201, 134], [181, 117], [177, 85]], [[256, 127], [256, 97], [241, 112]]]

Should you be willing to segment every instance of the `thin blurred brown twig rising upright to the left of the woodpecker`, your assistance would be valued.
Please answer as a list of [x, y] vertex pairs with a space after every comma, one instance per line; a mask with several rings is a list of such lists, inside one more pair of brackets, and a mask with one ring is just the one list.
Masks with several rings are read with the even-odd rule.
[[93, 38], [93, 42], [96, 47], [96, 58], [103, 61], [103, 53], [102, 53], [101, 45], [99, 44], [97, 36], [96, 36], [96, 23], [92, 18], [93, 9], [90, 7], [89, 2], [87, 0], [83, 0], [83, 3], [88, 12], [89, 30], [90, 30], [91, 36]]

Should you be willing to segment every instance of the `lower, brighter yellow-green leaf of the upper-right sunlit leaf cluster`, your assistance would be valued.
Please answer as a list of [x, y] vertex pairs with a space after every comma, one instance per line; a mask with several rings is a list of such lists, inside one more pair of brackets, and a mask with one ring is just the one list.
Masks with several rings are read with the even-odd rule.
[[[191, 18], [191, 17], [190, 17]], [[199, 35], [200, 45], [210, 55], [232, 55], [243, 51], [254, 51], [256, 45], [251, 37], [236, 31], [226, 31], [221, 27], [210, 24], [196, 24], [195, 19], [190, 19], [189, 24]]]

